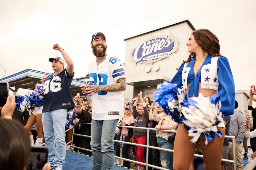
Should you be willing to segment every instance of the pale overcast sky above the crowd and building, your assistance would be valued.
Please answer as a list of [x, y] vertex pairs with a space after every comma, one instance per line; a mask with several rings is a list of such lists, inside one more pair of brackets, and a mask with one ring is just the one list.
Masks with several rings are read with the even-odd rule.
[[2, 0], [0, 78], [25, 69], [52, 73], [48, 58], [61, 55], [55, 43], [72, 58], [74, 78], [84, 77], [95, 58], [92, 34], [103, 32], [107, 53], [124, 62], [123, 38], [188, 18], [217, 35], [236, 90], [249, 90], [256, 85], [255, 11], [255, 0]]

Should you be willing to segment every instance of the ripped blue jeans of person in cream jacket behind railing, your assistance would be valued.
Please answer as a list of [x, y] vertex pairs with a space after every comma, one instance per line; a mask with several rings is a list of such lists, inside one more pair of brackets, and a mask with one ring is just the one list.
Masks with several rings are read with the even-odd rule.
[[[174, 142], [168, 142], [162, 137], [157, 137], [157, 143], [160, 148], [173, 149]], [[173, 169], [173, 152], [160, 151], [162, 168]]]

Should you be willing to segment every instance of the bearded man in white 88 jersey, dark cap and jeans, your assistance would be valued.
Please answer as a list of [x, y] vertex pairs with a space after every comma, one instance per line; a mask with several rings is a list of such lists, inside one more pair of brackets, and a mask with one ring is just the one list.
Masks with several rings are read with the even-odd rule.
[[82, 93], [92, 95], [92, 170], [113, 170], [114, 135], [118, 119], [123, 117], [126, 74], [120, 59], [106, 54], [104, 34], [93, 34], [91, 47], [96, 59], [89, 65], [89, 77], [94, 78], [94, 85], [82, 86]]

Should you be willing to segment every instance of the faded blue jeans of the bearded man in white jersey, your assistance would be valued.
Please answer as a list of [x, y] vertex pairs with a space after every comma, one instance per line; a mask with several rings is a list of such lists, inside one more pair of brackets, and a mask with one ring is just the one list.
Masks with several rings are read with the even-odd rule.
[[118, 119], [96, 121], [92, 119], [92, 170], [113, 170], [115, 164], [114, 136]]

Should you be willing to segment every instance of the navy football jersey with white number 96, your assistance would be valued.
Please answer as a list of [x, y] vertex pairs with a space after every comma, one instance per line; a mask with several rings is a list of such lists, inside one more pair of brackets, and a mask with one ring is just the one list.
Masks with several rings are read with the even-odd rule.
[[44, 80], [42, 113], [57, 109], [71, 110], [75, 107], [70, 91], [73, 77], [74, 74], [70, 76], [64, 69], [56, 76], [54, 73], [50, 74]]

